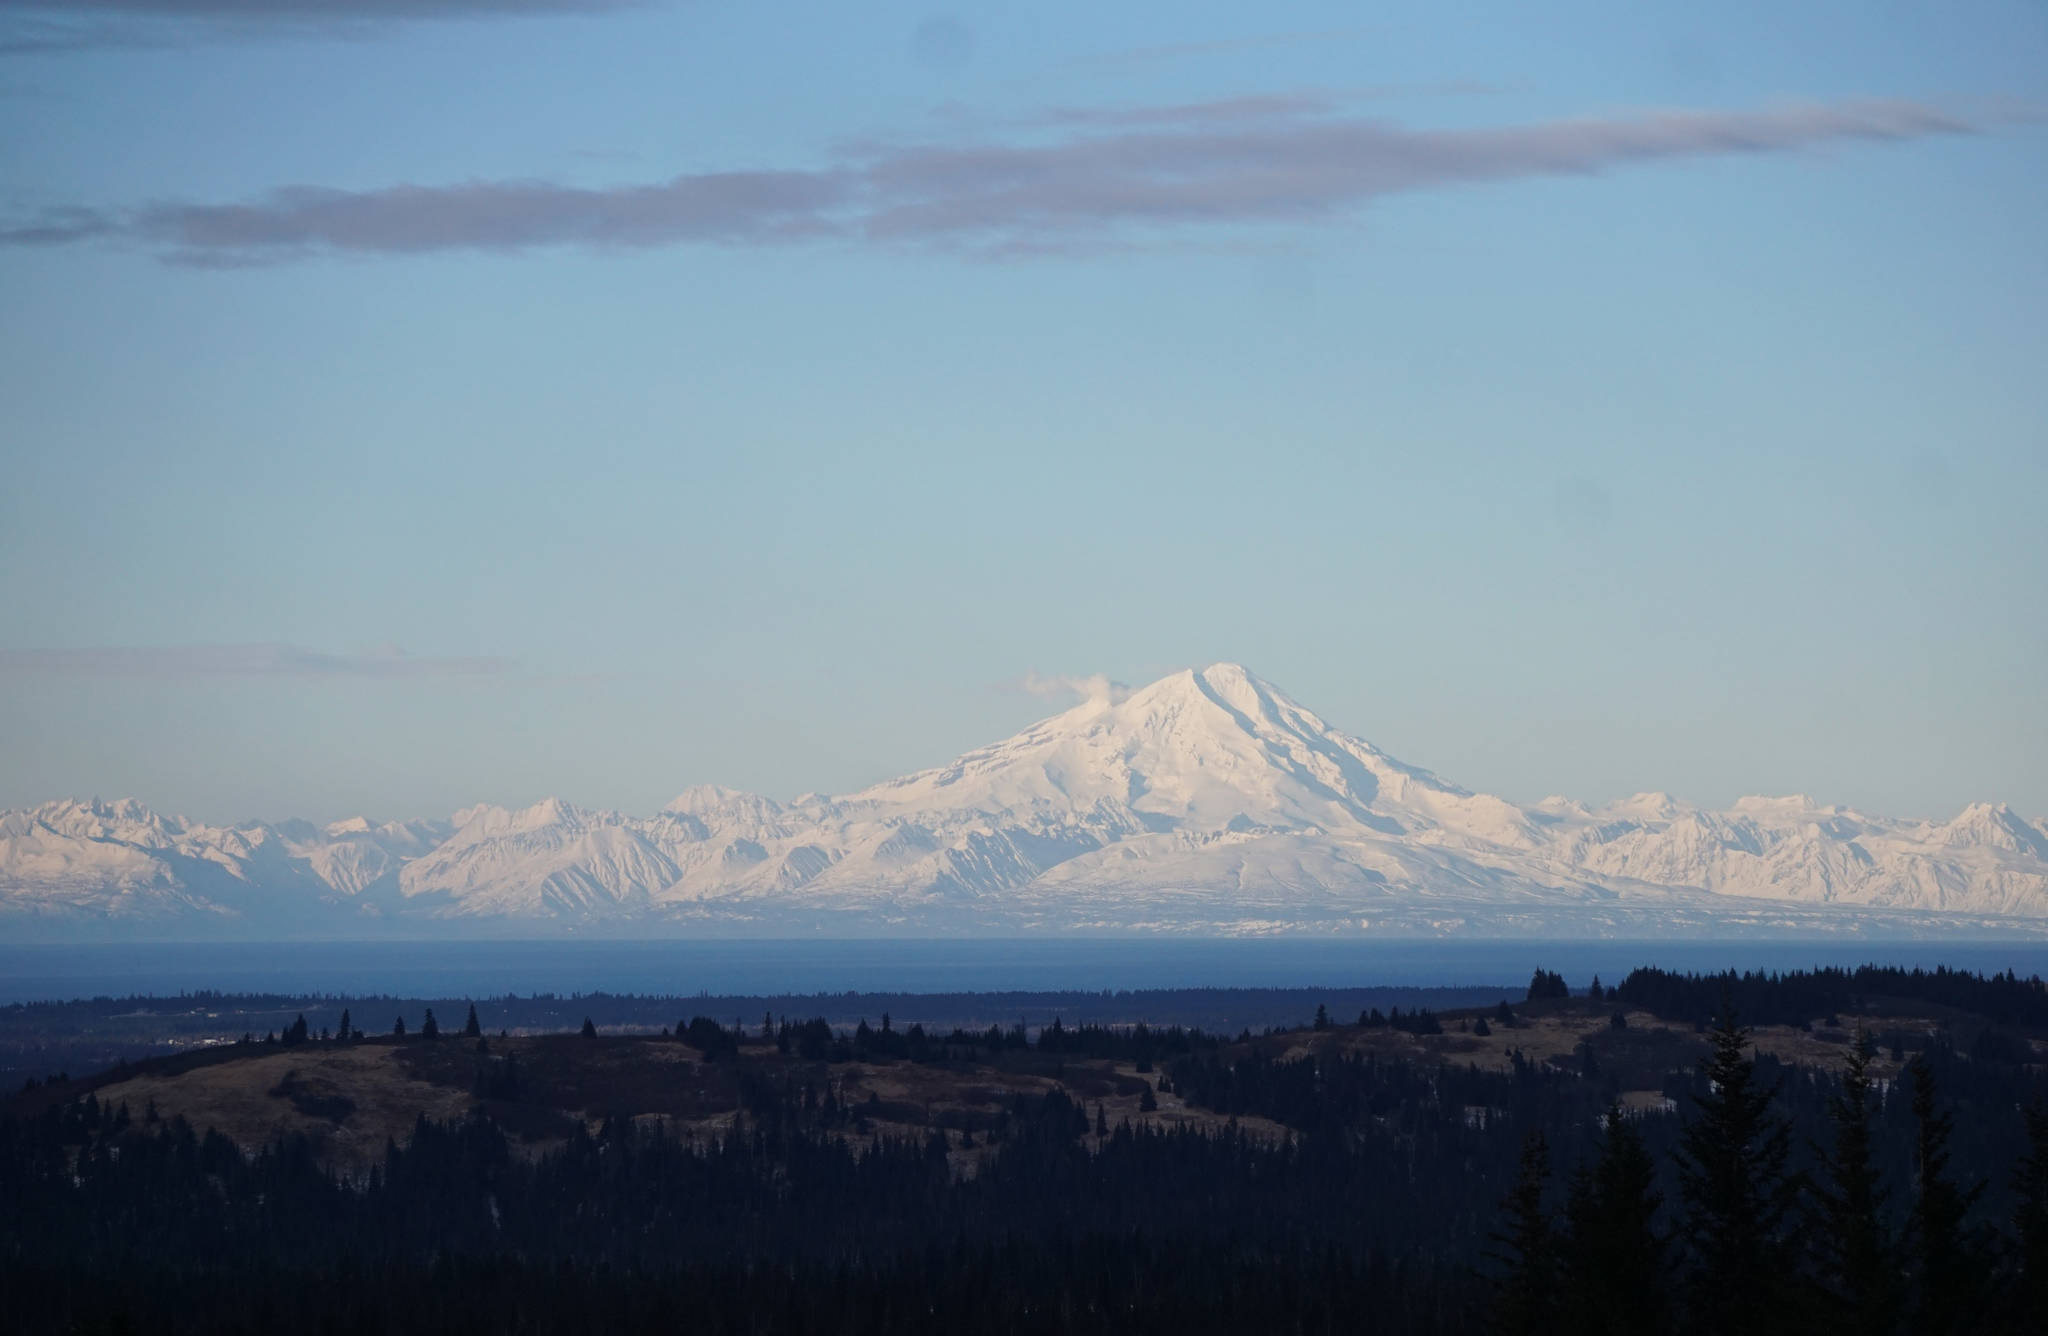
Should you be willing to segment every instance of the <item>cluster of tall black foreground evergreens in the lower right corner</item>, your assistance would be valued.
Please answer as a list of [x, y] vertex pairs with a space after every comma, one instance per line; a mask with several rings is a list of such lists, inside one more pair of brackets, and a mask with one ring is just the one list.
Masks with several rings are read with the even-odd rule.
[[[1550, 1193], [1542, 1131], [1491, 1234], [1495, 1328], [1565, 1332], [1874, 1332], [2040, 1330], [2048, 1311], [2048, 1104], [2023, 1115], [2028, 1147], [2007, 1170], [2003, 1219], [1974, 1207], [1991, 1180], [1954, 1168], [1956, 1119], [1933, 1059], [1907, 1068], [1905, 1172], [1886, 1172], [1866, 1043], [1849, 1049], [1827, 1096], [1827, 1131], [1808, 1141], [1776, 1107], [1733, 1012], [1710, 1033], [1702, 1090], [1669, 1150], [1675, 1209], [1657, 1160], [1620, 1104], [1599, 1147]], [[1980, 1111], [1989, 1113], [1989, 1111]]]

